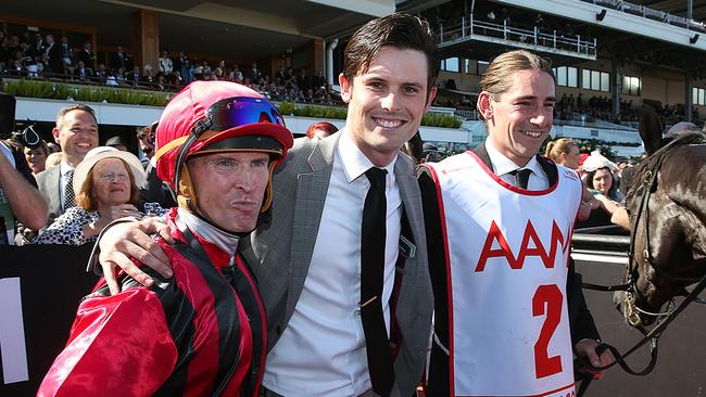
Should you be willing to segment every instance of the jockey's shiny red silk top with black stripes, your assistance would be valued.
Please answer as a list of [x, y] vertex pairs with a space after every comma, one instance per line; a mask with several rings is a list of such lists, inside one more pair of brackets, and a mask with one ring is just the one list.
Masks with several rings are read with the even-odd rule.
[[[172, 234], [184, 243], [175, 216], [176, 208], [167, 216]], [[228, 253], [196, 238], [216, 268], [227, 268]], [[186, 244], [157, 243], [174, 269], [166, 287], [123, 278], [123, 292], [109, 296], [101, 280], [80, 304], [38, 396], [259, 394], [266, 326], [252, 272], [237, 257], [226, 280], [224, 269], [185, 257]]]

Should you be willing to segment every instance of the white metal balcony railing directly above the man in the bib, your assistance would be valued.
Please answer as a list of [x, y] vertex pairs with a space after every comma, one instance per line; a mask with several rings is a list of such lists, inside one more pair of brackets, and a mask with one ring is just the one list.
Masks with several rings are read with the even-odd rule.
[[526, 29], [510, 26], [506, 21], [502, 24], [480, 21], [462, 16], [461, 23], [444, 26], [439, 25], [440, 47], [459, 41], [471, 40], [474, 37], [490, 37], [507, 41], [508, 44], [543, 47], [546, 50], [568, 51], [584, 56], [595, 57], [597, 53], [596, 39], [585, 39], [580, 35], [565, 35], [556, 30], [544, 31], [538, 26]]

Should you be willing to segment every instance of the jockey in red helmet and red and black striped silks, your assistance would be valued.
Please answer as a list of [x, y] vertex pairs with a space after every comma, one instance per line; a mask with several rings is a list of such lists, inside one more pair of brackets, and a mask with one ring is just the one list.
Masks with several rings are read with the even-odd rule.
[[269, 208], [273, 171], [291, 146], [277, 108], [247, 87], [196, 81], [179, 92], [155, 154], [177, 192], [168, 235], [155, 240], [174, 277], [150, 272], [143, 287], [123, 276], [113, 296], [101, 280], [38, 395], [257, 396], [266, 316], [238, 242]]

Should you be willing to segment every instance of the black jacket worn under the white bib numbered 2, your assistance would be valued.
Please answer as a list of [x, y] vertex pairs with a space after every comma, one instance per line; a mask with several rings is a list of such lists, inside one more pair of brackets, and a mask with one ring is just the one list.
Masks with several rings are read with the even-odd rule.
[[[474, 150], [474, 153], [490, 169], [493, 166], [490, 156], [486, 151], [486, 145], [481, 144]], [[546, 174], [550, 185], [557, 181], [558, 170], [556, 165], [542, 156], [537, 159]], [[444, 252], [444, 242], [442, 234], [441, 217], [437, 200], [437, 188], [427, 174], [427, 168], [419, 167], [418, 172], [419, 189], [421, 191], [421, 202], [424, 205], [424, 221], [427, 232], [427, 253], [429, 255], [429, 274], [434, 295], [434, 333], [439, 342], [449, 346], [449, 302], [446, 284], [446, 254]], [[593, 317], [589, 311], [583, 291], [581, 290], [581, 274], [577, 273], [573, 268], [573, 260], [569, 260], [569, 269], [566, 282], [567, 305], [569, 311], [569, 326], [571, 329], [571, 343], [576, 345], [584, 338], [598, 340], [600, 334], [595, 328]], [[432, 343], [431, 360], [428, 377], [429, 396], [450, 396], [449, 379], [449, 355], [437, 344]]]

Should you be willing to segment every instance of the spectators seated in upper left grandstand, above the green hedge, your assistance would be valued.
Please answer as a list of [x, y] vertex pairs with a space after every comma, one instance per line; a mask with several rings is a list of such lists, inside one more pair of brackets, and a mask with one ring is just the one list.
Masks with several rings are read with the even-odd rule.
[[281, 67], [270, 75], [256, 63], [244, 71], [225, 61], [210, 62], [171, 54], [163, 50], [157, 65], [136, 65], [134, 57], [118, 46], [106, 62], [92, 51], [90, 41], [75, 48], [68, 37], [54, 41], [53, 35], [29, 31], [5, 35], [0, 31], [0, 73], [23, 78], [53, 78], [162, 91], [178, 91], [194, 80], [226, 80], [242, 84], [276, 101], [331, 104], [329, 82], [323, 72], [310, 76], [305, 68]]

